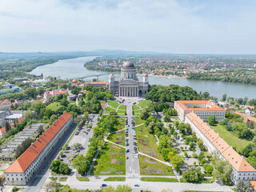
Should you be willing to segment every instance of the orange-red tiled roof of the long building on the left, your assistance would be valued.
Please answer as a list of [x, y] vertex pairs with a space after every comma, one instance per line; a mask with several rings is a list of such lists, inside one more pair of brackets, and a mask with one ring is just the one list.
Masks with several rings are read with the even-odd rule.
[[45, 148], [48, 142], [54, 135], [58, 133], [58, 130], [65, 125], [65, 123], [72, 117], [72, 114], [64, 113], [58, 118], [52, 126], [46, 130], [44, 134], [36, 142], [33, 143], [13, 164], [11, 164], [5, 173], [23, 173], [34, 162], [34, 159], [38, 157], [38, 154]]

